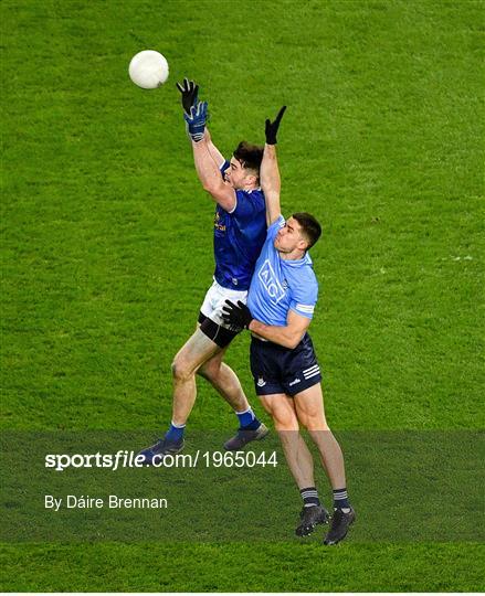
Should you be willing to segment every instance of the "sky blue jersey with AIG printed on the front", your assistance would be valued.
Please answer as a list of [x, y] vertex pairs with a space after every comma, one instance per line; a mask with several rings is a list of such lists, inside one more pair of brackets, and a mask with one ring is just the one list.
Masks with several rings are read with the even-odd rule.
[[251, 281], [247, 306], [252, 316], [266, 324], [286, 326], [288, 310], [313, 318], [318, 283], [308, 253], [298, 260], [285, 260], [273, 243], [285, 225], [283, 215], [267, 228]]

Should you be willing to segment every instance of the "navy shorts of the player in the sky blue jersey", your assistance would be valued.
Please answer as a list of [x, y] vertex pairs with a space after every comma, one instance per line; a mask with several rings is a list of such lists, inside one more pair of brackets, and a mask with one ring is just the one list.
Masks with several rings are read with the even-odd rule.
[[308, 333], [293, 350], [271, 341], [251, 339], [251, 372], [256, 395], [296, 395], [321, 381]]

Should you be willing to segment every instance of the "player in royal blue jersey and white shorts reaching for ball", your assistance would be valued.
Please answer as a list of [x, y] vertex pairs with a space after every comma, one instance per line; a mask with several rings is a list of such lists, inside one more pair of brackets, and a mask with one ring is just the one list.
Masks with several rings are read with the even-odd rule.
[[241, 449], [268, 432], [254, 415], [238, 376], [222, 361], [241, 329], [234, 330], [221, 316], [225, 299], [246, 301], [254, 265], [266, 237], [265, 203], [260, 188], [263, 147], [243, 141], [226, 161], [205, 127], [207, 103], [199, 102], [198, 85], [186, 78], [177, 86], [196, 170], [215, 202], [215, 272], [200, 308], [198, 328], [175, 356], [171, 424], [164, 438], [141, 451], [147, 464], [183, 448], [186, 423], [197, 396], [196, 374], [213, 385], [239, 418], [239, 429], [224, 444], [225, 449]]

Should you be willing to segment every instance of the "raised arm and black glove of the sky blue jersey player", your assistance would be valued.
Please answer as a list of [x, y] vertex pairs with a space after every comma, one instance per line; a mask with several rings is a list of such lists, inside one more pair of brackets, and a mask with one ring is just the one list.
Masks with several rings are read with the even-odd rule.
[[280, 205], [282, 183], [276, 158], [276, 134], [285, 109], [286, 106], [283, 106], [278, 111], [276, 119], [273, 123], [266, 120], [265, 126], [266, 143], [264, 146], [260, 177], [261, 188], [263, 189], [264, 199], [266, 201], [266, 223], [268, 226], [275, 222], [282, 213]]

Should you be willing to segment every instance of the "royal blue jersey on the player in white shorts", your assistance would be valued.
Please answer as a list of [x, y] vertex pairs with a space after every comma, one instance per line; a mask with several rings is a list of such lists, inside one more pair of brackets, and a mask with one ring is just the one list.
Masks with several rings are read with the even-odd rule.
[[[226, 161], [221, 173], [229, 168]], [[261, 189], [235, 191], [235, 207], [219, 204], [214, 216], [214, 279], [224, 288], [246, 290], [266, 237], [266, 206]]]

